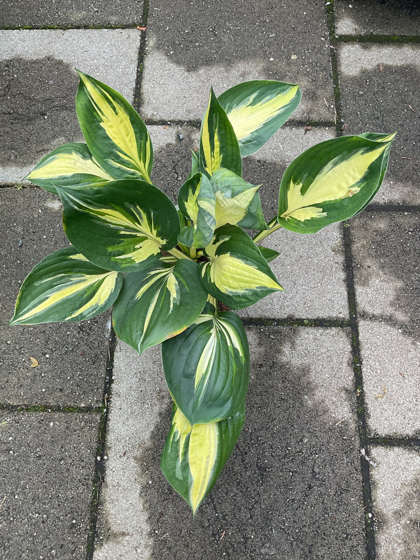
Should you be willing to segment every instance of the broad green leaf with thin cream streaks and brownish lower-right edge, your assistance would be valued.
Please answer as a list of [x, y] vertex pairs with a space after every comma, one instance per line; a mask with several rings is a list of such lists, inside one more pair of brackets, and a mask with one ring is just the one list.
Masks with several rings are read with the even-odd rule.
[[124, 277], [115, 302], [115, 333], [139, 354], [185, 330], [207, 301], [193, 260], [163, 257]]

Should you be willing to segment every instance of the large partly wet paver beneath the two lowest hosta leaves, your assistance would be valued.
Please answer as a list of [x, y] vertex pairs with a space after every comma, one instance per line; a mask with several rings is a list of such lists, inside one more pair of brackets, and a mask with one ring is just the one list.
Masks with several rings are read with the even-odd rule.
[[139, 358], [118, 343], [95, 560], [242, 560], [269, 547], [284, 558], [365, 556], [349, 333], [248, 336], [245, 427], [195, 519], [159, 469], [170, 423], [160, 349]]

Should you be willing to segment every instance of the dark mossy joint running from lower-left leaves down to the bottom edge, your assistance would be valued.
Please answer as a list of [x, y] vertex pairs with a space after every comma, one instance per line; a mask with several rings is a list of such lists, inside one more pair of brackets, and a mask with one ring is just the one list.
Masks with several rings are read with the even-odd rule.
[[90, 526], [87, 537], [86, 560], [92, 560], [95, 550], [96, 524], [98, 518], [99, 500], [102, 482], [105, 473], [105, 438], [108, 427], [108, 410], [111, 399], [111, 389], [113, 384], [114, 350], [116, 335], [111, 325], [108, 339], [108, 358], [106, 360], [104, 391], [102, 393], [102, 416], [100, 418], [96, 451], [95, 451], [95, 474], [92, 486], [92, 497], [90, 504]]

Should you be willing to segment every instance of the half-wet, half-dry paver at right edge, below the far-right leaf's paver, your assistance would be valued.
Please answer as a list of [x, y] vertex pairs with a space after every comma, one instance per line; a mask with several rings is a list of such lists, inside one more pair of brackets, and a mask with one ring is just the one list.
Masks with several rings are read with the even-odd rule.
[[404, 212], [352, 221], [368, 427], [380, 436], [420, 434], [417, 222]]

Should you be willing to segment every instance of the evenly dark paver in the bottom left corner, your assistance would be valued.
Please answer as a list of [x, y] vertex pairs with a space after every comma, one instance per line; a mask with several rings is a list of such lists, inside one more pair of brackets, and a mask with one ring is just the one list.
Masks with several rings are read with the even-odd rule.
[[86, 558], [97, 414], [0, 413], [0, 557]]

